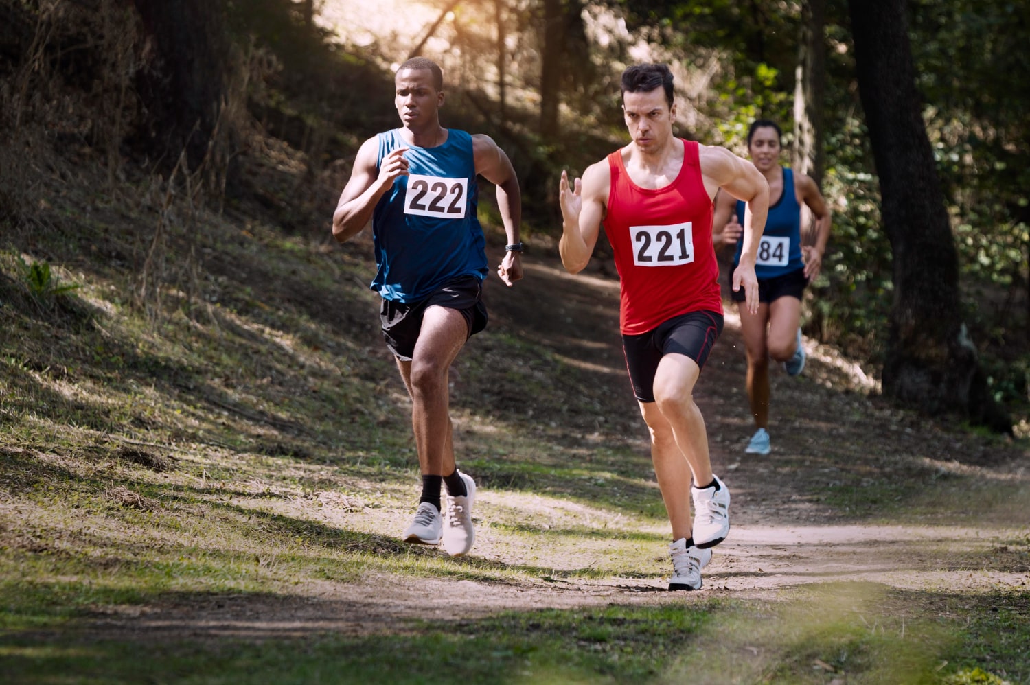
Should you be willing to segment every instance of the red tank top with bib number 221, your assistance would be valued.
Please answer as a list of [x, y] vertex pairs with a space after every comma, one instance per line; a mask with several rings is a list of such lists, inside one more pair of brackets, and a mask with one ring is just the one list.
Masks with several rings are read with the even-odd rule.
[[712, 199], [701, 179], [697, 143], [682, 142], [679, 175], [657, 190], [633, 183], [621, 150], [608, 156], [612, 186], [605, 232], [619, 271], [619, 323], [626, 335], [647, 333], [680, 314], [722, 313]]

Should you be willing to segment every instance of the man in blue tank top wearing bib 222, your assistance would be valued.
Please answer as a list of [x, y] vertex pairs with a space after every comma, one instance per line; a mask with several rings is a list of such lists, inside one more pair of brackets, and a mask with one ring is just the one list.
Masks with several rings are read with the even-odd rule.
[[443, 541], [450, 554], [466, 554], [475, 540], [476, 483], [454, 461], [448, 372], [468, 339], [486, 327], [476, 178], [497, 186], [509, 243], [497, 275], [509, 286], [522, 278], [521, 194], [508, 156], [489, 136], [440, 126], [443, 73], [436, 63], [408, 60], [394, 85], [402, 127], [366, 140], [357, 151], [333, 214], [333, 236], [344, 242], [372, 220], [378, 267], [372, 288], [382, 296], [383, 338], [411, 396], [422, 474], [422, 494], [404, 539]]

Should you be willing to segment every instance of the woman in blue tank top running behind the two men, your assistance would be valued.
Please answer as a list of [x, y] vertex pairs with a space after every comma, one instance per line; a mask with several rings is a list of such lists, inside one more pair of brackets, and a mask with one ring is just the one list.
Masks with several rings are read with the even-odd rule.
[[[805, 285], [819, 275], [823, 251], [830, 234], [830, 211], [815, 180], [805, 174], [780, 166], [780, 127], [768, 119], [758, 119], [748, 130], [748, 152], [769, 184], [769, 213], [765, 221], [755, 274], [758, 276], [757, 313], [737, 306], [741, 332], [748, 354], [747, 389], [755, 434], [745, 452], [768, 454], [769, 376], [768, 359], [782, 362], [787, 373], [796, 376], [804, 368], [801, 345], [801, 297]], [[801, 245], [801, 203], [815, 217], [816, 241]], [[713, 242], [732, 245], [743, 231], [743, 207], [733, 198], [716, 198], [712, 220]], [[740, 260], [737, 245], [733, 268]], [[730, 272], [732, 278], [732, 272]], [[735, 293], [730, 293], [740, 303]]]

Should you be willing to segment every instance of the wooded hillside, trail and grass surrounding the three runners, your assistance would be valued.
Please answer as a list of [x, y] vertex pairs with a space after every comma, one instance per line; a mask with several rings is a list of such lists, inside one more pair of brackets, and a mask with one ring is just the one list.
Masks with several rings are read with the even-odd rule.
[[[1028, 13], [0, 0], [0, 674], [1026, 682]], [[529, 244], [452, 369], [462, 558], [397, 539], [410, 403], [371, 238], [330, 235], [413, 54], [446, 69], [445, 126], [508, 151]], [[680, 135], [744, 155], [781, 122], [834, 212], [767, 459], [741, 455], [727, 312], [698, 392], [734, 538], [687, 598], [611, 255], [574, 279], [555, 249], [558, 175], [624, 144], [639, 61], [673, 66]], [[423, 650], [449, 670], [405, 671]]]

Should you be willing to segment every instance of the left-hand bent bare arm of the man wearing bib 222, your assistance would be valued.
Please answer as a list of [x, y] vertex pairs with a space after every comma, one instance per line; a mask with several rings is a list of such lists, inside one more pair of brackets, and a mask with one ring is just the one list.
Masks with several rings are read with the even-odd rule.
[[377, 172], [379, 149], [376, 139], [369, 138], [362, 144], [350, 179], [333, 212], [333, 237], [337, 241], [346, 242], [360, 233], [372, 218], [379, 199], [389, 192], [398, 176], [407, 175], [408, 161], [404, 159], [407, 150], [401, 147], [390, 152]]

